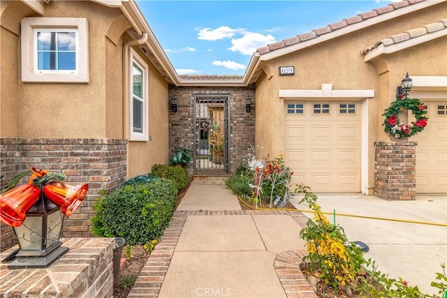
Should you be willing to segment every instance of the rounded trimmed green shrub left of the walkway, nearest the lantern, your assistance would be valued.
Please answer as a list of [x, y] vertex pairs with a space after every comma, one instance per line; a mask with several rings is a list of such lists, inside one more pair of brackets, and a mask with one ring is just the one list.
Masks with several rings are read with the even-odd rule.
[[173, 214], [176, 192], [167, 179], [117, 188], [94, 204], [92, 231], [100, 237], [122, 237], [128, 245], [156, 239]]

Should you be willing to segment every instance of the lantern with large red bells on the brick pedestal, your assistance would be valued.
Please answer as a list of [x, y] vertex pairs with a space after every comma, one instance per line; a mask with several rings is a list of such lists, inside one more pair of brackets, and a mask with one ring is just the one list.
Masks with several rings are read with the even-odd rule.
[[68, 251], [60, 241], [64, 215], [78, 209], [88, 191], [88, 184], [75, 185], [50, 181], [40, 188], [33, 184], [47, 171], [34, 172], [28, 184], [0, 195], [0, 221], [13, 227], [19, 248], [3, 261], [13, 260], [8, 269], [47, 268]]

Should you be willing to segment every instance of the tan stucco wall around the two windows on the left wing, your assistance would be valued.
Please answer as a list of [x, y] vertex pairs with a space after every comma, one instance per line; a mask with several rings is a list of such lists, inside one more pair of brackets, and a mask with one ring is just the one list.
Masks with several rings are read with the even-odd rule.
[[[91, 1], [50, 1], [42, 17], [85, 17], [89, 27], [88, 83], [21, 81], [20, 20], [38, 17], [20, 1], [1, 1], [1, 137], [128, 139], [123, 93], [123, 45], [131, 25], [119, 8]], [[130, 141], [128, 177], [168, 163], [168, 84], [149, 66], [149, 141]]]

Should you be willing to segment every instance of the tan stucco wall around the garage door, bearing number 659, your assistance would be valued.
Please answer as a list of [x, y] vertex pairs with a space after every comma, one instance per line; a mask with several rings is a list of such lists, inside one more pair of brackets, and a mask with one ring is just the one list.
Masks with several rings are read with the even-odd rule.
[[[443, 63], [439, 60], [440, 57], [445, 57], [446, 38], [438, 38], [390, 54], [380, 65], [365, 62], [360, 52], [382, 38], [437, 22], [445, 18], [445, 15], [446, 6], [441, 3], [263, 61], [263, 70], [271, 73], [272, 77], [270, 80], [265, 76], [260, 77], [256, 84], [256, 145], [270, 149], [271, 154], [284, 150], [284, 99], [279, 98], [280, 89], [319, 90], [321, 84], [332, 84], [332, 90], [374, 89], [374, 98], [368, 100], [368, 163], [374, 164], [374, 142], [386, 137], [381, 126], [381, 114], [395, 100], [396, 87], [400, 85], [405, 73], [408, 71], [410, 76], [447, 75], [445, 61]], [[279, 66], [295, 66], [295, 75], [279, 76]], [[265, 96], [266, 94], [271, 96]], [[368, 175], [367, 184], [372, 189], [374, 177], [372, 173]]]

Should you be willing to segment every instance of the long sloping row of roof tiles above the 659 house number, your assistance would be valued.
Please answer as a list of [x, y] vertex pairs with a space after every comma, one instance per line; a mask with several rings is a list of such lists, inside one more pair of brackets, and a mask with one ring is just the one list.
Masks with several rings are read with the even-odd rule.
[[260, 54], [260, 55], [267, 54], [274, 50], [278, 50], [283, 47], [288, 47], [291, 45], [295, 45], [297, 43], [302, 43], [307, 40], [318, 38], [319, 36], [322, 36], [323, 34], [331, 33], [338, 29], [348, 27], [351, 24], [363, 22], [363, 21], [368, 20], [372, 17], [377, 17], [379, 15], [383, 15], [385, 13], [389, 13], [391, 11], [412, 5], [414, 3], [422, 2], [422, 1], [425, 1], [425, 0], [404, 0], [401, 2], [391, 3], [388, 6], [384, 6], [381, 8], [375, 8], [374, 10], [369, 11], [367, 13], [360, 13], [360, 14], [356, 15], [355, 17], [347, 17], [346, 19], [344, 19], [340, 22], [328, 24], [328, 26], [326, 26], [326, 27], [314, 29], [311, 32], [302, 33], [302, 34], [299, 34], [298, 36], [294, 36], [292, 38], [287, 38], [287, 39], [281, 40], [277, 43], [270, 43], [268, 45], [265, 45], [264, 47], [258, 48], [256, 50], [256, 52], [258, 52], [258, 54]]

